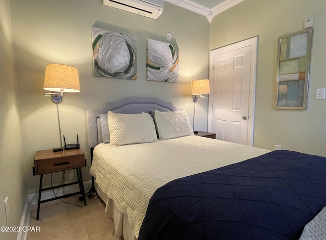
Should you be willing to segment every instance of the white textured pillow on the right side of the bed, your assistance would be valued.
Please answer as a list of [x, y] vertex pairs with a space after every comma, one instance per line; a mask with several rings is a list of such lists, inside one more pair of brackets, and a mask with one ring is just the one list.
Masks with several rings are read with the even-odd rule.
[[173, 112], [155, 110], [155, 123], [160, 140], [194, 135], [194, 130], [184, 109]]

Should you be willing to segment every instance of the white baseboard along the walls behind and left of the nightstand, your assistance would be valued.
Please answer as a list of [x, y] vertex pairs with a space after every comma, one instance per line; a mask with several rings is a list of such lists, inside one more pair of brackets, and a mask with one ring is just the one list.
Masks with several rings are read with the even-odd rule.
[[[84, 187], [89, 186], [89, 185], [90, 186], [92, 185], [92, 180], [84, 182]], [[85, 190], [87, 190], [87, 189], [88, 188], [86, 188]], [[59, 197], [59, 196], [65, 195], [65, 194], [75, 193], [78, 191], [79, 191], [79, 186], [77, 184], [75, 184], [75, 185], [65, 186], [64, 189], [60, 188], [58, 192], [57, 192], [57, 190], [55, 190], [55, 193]], [[29, 194], [26, 197], [26, 202], [25, 202], [24, 210], [22, 213], [21, 221], [20, 221], [20, 229], [23, 229], [24, 226], [29, 226], [32, 205], [37, 204], [38, 196], [39, 196], [38, 193], [33, 193], [33, 194]], [[48, 190], [48, 191], [42, 192], [41, 200], [45, 200], [45, 199], [49, 199], [49, 198], [53, 198], [53, 197], [55, 197], [53, 195], [53, 191]], [[26, 240], [27, 234], [28, 234], [27, 231], [25, 231], [25, 232], [19, 231], [18, 235], [17, 235], [17, 240]]]

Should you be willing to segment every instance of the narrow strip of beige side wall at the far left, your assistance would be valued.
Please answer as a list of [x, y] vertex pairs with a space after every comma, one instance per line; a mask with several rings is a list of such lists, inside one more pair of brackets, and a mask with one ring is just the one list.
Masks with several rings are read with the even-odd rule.
[[[0, 1], [0, 52], [0, 226], [19, 226], [26, 190], [8, 0]], [[8, 221], [4, 209], [6, 197], [10, 210]], [[17, 232], [0, 232], [0, 239], [15, 238]]]

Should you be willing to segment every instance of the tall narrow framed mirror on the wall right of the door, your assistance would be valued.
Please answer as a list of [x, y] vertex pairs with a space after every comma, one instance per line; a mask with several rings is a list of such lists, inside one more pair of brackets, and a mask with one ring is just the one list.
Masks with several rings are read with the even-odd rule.
[[312, 28], [279, 37], [276, 109], [307, 109]]

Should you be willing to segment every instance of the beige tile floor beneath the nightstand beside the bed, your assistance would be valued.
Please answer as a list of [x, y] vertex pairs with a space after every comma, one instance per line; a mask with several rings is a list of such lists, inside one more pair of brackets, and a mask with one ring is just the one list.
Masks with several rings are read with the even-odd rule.
[[[75, 195], [62, 200], [83, 206], [78, 197], [79, 195]], [[104, 213], [103, 201], [97, 196], [87, 198], [86, 201], [87, 206], [83, 207], [63, 203], [60, 199], [42, 203], [38, 221], [36, 221], [37, 205], [33, 205], [29, 226], [39, 226], [40, 231], [29, 232], [27, 239], [114, 240], [114, 223]]]

